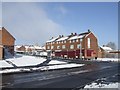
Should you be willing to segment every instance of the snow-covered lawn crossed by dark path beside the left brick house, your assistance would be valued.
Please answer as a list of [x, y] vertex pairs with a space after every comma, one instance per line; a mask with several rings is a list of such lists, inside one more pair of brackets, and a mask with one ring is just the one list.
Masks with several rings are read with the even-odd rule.
[[20, 66], [34, 66], [37, 64], [41, 64], [46, 59], [44, 58], [38, 58], [34, 56], [15, 56], [14, 58], [9, 58], [6, 60], [1, 60], [0, 61], [0, 68], [5, 68], [5, 67], [13, 67], [12, 64], [7, 63], [7, 61], [11, 62], [13, 65], [20, 67]]

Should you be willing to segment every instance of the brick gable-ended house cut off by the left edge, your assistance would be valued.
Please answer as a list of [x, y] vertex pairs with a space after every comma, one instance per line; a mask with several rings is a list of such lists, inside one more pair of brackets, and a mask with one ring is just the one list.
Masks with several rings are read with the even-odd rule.
[[0, 28], [0, 59], [14, 56], [15, 38], [4, 28]]

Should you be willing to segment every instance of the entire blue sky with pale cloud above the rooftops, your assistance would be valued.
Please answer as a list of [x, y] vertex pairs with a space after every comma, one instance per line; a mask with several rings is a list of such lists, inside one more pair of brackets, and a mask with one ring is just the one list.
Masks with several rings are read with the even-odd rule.
[[90, 29], [99, 46], [110, 41], [118, 45], [118, 3], [3, 2], [2, 26], [16, 44], [43, 45], [51, 37]]

